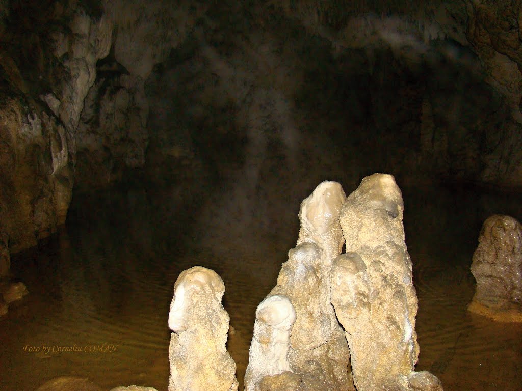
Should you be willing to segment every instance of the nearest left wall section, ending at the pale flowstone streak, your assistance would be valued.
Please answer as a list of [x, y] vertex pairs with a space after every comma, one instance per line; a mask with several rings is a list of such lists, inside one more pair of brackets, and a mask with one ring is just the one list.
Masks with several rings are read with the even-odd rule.
[[[103, 15], [74, 2], [33, 7], [10, 9], [0, 54], [0, 226], [11, 252], [34, 246], [65, 221], [76, 128], [112, 34]], [[32, 29], [23, 30], [28, 23]]]

